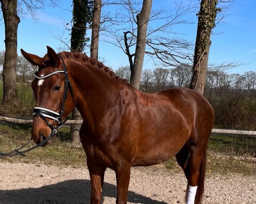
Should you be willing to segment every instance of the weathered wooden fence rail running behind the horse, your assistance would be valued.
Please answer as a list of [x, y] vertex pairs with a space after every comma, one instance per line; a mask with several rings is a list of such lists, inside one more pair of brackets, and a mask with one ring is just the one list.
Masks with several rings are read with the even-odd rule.
[[[16, 119], [16, 118], [10, 118], [5, 116], [0, 116], [0, 121], [14, 122], [14, 123], [20, 123], [20, 124], [33, 124], [33, 120]], [[83, 122], [82, 120], [67, 120], [65, 124], [81, 125], [82, 122]], [[256, 136], [256, 131], [249, 131], [249, 130], [212, 129], [212, 133]]]

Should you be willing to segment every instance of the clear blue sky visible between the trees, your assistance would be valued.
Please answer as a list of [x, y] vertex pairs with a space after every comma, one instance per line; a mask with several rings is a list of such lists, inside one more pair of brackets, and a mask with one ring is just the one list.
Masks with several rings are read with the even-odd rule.
[[[182, 2], [185, 4], [189, 1], [183, 0]], [[173, 10], [172, 3], [170, 0], [153, 0], [152, 8], [163, 7], [166, 10]], [[192, 0], [192, 3], [198, 3], [198, 0]], [[32, 20], [29, 15], [22, 18], [18, 27], [18, 55], [20, 55], [20, 48], [38, 56], [44, 56], [46, 45], [57, 50], [61, 43], [51, 37], [51, 32], [61, 34], [64, 31], [63, 24], [69, 23], [72, 19], [71, 5], [72, 0], [62, 0], [61, 7], [45, 8], [44, 11], [38, 11], [40, 19], [38, 22]], [[225, 23], [217, 25], [214, 29], [214, 33], [221, 34], [215, 34], [211, 37], [209, 62], [244, 62], [247, 65], [233, 68], [229, 72], [242, 74], [245, 71], [256, 71], [255, 8], [256, 0], [236, 0], [233, 6], [226, 11]], [[189, 14], [187, 18], [195, 23], [177, 27], [177, 30], [180, 29], [186, 34], [186, 39], [195, 42], [197, 17], [195, 14]], [[69, 37], [67, 31], [65, 36]], [[0, 24], [0, 50], [4, 49], [2, 20]], [[105, 65], [111, 66], [113, 69], [117, 69], [121, 65], [128, 65], [128, 58], [122, 50], [106, 42], [100, 42], [99, 56], [105, 59]], [[155, 67], [150, 60], [145, 58], [143, 68], [152, 69]]]

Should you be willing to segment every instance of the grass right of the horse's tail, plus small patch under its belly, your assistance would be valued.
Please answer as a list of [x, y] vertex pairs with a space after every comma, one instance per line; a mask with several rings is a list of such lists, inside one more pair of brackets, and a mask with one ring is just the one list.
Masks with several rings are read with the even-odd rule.
[[[250, 136], [211, 136], [207, 149], [208, 174], [242, 173], [256, 175], [256, 137]], [[175, 158], [164, 162], [172, 170], [180, 171]]]

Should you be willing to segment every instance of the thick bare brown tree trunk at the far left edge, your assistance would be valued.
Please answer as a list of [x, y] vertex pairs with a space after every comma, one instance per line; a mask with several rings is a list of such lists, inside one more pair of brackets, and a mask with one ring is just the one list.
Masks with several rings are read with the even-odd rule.
[[3, 104], [17, 104], [17, 0], [0, 0], [5, 25], [5, 60], [3, 64]]

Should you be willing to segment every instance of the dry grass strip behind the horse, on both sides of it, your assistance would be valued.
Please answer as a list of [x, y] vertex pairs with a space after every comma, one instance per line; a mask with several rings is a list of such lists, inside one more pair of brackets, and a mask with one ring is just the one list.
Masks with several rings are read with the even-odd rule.
[[[0, 152], [13, 150], [30, 139], [31, 126], [0, 124]], [[31, 144], [31, 146], [34, 144]], [[243, 173], [256, 175], [256, 138], [246, 136], [211, 136], [207, 153], [208, 173]], [[81, 145], [71, 143], [68, 127], [59, 129], [59, 135], [49, 147], [40, 147], [27, 153], [0, 161], [44, 163], [48, 165], [79, 167], [86, 165], [86, 156]], [[180, 170], [175, 158], [163, 163], [167, 168]]]

